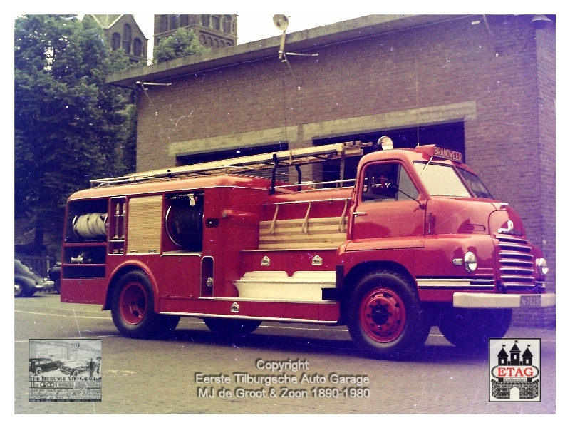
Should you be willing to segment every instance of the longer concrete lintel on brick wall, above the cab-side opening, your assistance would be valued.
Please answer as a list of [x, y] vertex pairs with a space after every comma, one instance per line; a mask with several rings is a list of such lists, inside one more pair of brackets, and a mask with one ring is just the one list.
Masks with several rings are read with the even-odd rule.
[[477, 101], [466, 101], [335, 121], [307, 123], [302, 127], [302, 139], [310, 141], [314, 138], [336, 137], [351, 133], [387, 131], [453, 121], [472, 121], [475, 118], [477, 118]]

